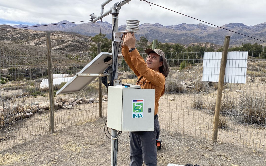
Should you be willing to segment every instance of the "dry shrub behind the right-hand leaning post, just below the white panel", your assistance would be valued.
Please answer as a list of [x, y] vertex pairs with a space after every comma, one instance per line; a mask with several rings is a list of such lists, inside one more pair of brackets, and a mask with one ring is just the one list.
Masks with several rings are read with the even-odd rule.
[[[216, 101], [213, 100], [213, 102], [209, 105], [209, 109], [211, 109], [213, 112], [215, 112], [215, 105]], [[236, 107], [236, 103], [234, 99], [230, 98], [229, 96], [224, 96], [221, 101], [221, 107], [220, 107], [220, 114], [233, 114]]]

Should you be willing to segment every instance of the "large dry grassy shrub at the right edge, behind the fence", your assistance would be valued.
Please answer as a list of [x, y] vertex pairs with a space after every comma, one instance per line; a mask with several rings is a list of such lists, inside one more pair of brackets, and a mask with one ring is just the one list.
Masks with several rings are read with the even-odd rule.
[[242, 93], [238, 102], [242, 113], [241, 122], [266, 126], [266, 96], [265, 94]]

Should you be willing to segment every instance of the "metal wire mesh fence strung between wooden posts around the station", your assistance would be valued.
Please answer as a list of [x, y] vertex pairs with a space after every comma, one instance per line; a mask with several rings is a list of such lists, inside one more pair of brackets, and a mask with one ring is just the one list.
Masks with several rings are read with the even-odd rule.
[[[171, 71], [158, 114], [161, 129], [211, 140], [218, 83], [202, 81], [203, 54], [165, 53]], [[246, 83], [224, 83], [218, 142], [265, 151], [265, 53], [248, 54]], [[0, 55], [0, 143], [4, 150], [49, 134], [49, 94], [46, 51], [1, 48]], [[89, 52], [53, 50], [53, 93], [95, 56]], [[119, 59], [119, 73], [123, 83], [136, 83], [135, 74], [123, 59]], [[106, 117], [104, 86], [102, 96]], [[96, 118], [101, 101], [98, 78], [79, 93], [55, 95], [54, 99], [55, 131]]]

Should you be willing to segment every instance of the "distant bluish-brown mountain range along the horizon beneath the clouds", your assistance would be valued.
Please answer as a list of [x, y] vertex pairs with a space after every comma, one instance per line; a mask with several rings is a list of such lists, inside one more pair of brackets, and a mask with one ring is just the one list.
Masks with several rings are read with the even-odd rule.
[[[63, 24], [60, 24], [63, 23]], [[95, 23], [82, 23], [82, 24], [74, 24], [70, 23], [66, 20], [63, 20], [59, 23], [52, 23], [59, 25], [51, 25], [51, 24], [43, 24], [50, 26], [40, 26], [33, 27], [39, 25], [32, 25], [32, 27], [28, 25], [14, 25], [14, 28], [21, 27], [30, 27], [25, 29], [32, 29], [36, 31], [65, 31], [65, 32], [75, 32], [81, 35], [86, 36], [95, 36], [100, 33], [106, 34], [107, 38], [111, 38], [111, 30], [112, 24], [108, 22], [100, 22], [97, 21]], [[190, 43], [199, 43], [199, 42], [210, 42], [213, 44], [223, 45], [223, 41], [226, 35], [230, 35], [230, 45], [241, 45], [242, 43], [258, 43], [265, 45], [264, 42], [252, 39], [250, 37], [246, 37], [240, 35], [238, 33], [251, 36], [256, 39], [266, 40], [266, 22], [257, 24], [257, 25], [244, 25], [242, 23], [230, 23], [221, 26], [222, 28], [226, 28], [228, 30], [238, 32], [234, 33], [231, 31], [227, 31], [226, 29], [222, 29], [219, 27], [211, 27], [205, 24], [178, 24], [178, 25], [167, 25], [163, 26], [159, 23], [149, 24], [144, 23], [141, 24], [139, 32], [135, 34], [136, 38], [139, 39], [141, 36], [146, 37], [148, 41], [152, 41], [153, 39], [157, 39], [158, 41], [165, 43], [178, 43], [182, 45], [188, 45]], [[126, 29], [126, 25], [121, 25], [118, 27], [118, 31], [123, 31]]]

